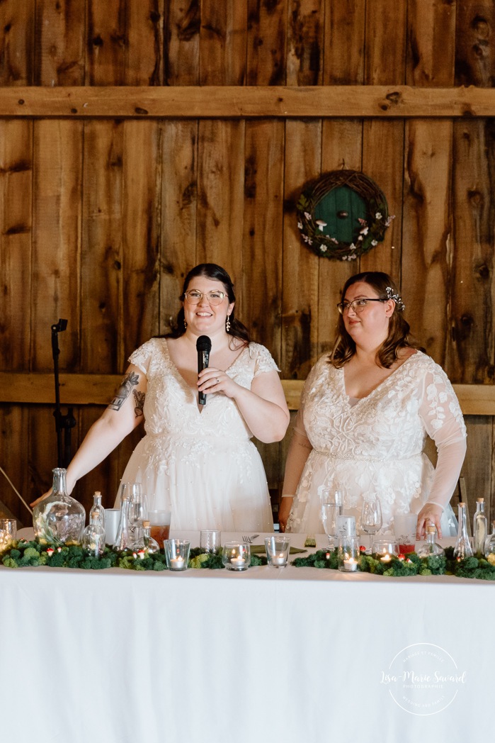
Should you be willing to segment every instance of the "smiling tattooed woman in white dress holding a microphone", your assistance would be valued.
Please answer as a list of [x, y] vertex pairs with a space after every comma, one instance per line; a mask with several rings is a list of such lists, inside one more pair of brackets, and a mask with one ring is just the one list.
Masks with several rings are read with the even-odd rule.
[[266, 476], [252, 436], [281, 441], [289, 425], [278, 368], [235, 317], [229, 274], [189, 271], [176, 327], [134, 351], [114, 400], [68, 467], [71, 492], [143, 421], [146, 435], [122, 475], [141, 482], [171, 528], [273, 531]]

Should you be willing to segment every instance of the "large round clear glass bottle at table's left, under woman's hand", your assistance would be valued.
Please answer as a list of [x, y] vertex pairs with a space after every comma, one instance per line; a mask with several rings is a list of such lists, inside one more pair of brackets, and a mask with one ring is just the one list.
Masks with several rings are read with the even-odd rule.
[[53, 487], [33, 509], [36, 539], [44, 545], [80, 545], [86, 521], [84, 506], [67, 493], [67, 470], [53, 470]]

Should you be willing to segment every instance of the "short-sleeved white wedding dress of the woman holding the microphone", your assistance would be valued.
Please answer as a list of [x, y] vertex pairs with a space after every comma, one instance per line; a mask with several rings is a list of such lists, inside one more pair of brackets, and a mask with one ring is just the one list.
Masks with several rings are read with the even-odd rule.
[[[212, 393], [200, 412], [165, 338], [152, 338], [129, 360], [148, 382], [146, 435], [122, 481], [142, 482], [151, 509], [171, 510], [174, 529], [273, 531], [263, 463], [236, 403]], [[249, 343], [226, 373], [250, 389], [254, 377], [274, 370], [269, 351]]]

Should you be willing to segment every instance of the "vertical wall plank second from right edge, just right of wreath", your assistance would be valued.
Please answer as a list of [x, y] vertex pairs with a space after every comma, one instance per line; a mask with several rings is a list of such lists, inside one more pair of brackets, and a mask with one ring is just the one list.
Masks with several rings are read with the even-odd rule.
[[[407, 83], [453, 85], [455, 7], [415, 1], [408, 13]], [[406, 123], [404, 160], [403, 296], [413, 332], [427, 352], [445, 365], [450, 356], [452, 269], [452, 122]], [[420, 282], [408, 282], [416, 273]]]

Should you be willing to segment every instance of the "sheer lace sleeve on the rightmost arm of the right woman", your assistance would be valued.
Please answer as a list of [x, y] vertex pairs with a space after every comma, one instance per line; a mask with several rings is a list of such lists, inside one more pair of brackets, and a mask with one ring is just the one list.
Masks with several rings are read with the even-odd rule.
[[465, 458], [466, 426], [447, 374], [433, 362], [424, 374], [419, 414], [438, 452], [427, 502], [445, 507], [455, 490]]

